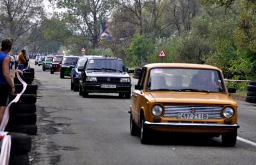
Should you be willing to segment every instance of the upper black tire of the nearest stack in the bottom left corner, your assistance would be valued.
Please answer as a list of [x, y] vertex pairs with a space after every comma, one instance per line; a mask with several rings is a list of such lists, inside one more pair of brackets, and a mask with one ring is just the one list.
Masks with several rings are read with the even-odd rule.
[[8, 132], [11, 136], [11, 154], [23, 154], [31, 151], [31, 136], [27, 134]]

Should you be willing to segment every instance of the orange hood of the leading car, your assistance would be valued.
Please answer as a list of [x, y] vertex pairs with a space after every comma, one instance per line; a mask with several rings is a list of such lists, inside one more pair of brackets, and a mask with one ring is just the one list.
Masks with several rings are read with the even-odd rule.
[[225, 93], [152, 91], [150, 96], [156, 102], [182, 104], [234, 104], [236, 101]]

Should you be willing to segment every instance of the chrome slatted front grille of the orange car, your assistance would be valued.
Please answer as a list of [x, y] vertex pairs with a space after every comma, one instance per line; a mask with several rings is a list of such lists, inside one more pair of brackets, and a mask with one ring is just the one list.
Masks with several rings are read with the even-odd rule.
[[191, 113], [195, 109], [195, 113], [207, 113], [209, 118], [221, 119], [221, 109], [219, 106], [170, 106], [164, 105], [164, 115], [166, 118], [177, 118], [177, 113]]

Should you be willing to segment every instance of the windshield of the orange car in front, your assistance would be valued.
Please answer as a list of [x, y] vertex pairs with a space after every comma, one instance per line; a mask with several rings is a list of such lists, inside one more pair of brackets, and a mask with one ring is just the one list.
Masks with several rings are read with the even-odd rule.
[[147, 90], [225, 93], [225, 86], [218, 70], [152, 68], [147, 80]]

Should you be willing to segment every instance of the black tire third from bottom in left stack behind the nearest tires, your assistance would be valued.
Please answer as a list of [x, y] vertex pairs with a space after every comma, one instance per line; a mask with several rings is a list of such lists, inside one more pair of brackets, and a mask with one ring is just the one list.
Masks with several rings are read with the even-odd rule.
[[35, 104], [20, 104], [13, 102], [10, 106], [10, 114], [12, 113], [35, 113], [36, 105]]

